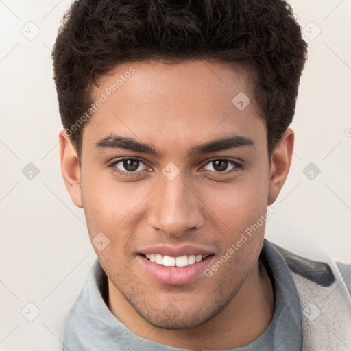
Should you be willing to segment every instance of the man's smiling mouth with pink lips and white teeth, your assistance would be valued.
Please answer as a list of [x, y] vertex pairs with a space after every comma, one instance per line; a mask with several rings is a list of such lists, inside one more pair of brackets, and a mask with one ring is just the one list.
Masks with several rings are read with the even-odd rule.
[[204, 271], [213, 261], [214, 254], [204, 252], [189, 254], [140, 253], [137, 254], [141, 269], [153, 280], [163, 285], [187, 285], [204, 276]]

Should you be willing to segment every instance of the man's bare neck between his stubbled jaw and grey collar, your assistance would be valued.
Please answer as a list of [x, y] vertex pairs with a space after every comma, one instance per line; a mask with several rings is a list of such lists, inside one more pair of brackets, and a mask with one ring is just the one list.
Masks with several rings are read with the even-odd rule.
[[239, 348], [257, 339], [274, 313], [274, 292], [261, 261], [223, 310], [206, 324], [185, 330], [151, 326], [130, 306], [109, 280], [108, 306], [134, 334], [175, 348], [221, 350]]

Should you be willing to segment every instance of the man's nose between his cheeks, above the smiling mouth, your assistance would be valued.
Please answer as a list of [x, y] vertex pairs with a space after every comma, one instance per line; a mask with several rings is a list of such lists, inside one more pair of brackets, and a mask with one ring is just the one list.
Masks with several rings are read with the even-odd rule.
[[203, 225], [202, 202], [181, 174], [173, 180], [161, 175], [153, 195], [147, 221], [154, 229], [170, 237], [182, 237], [186, 230]]

